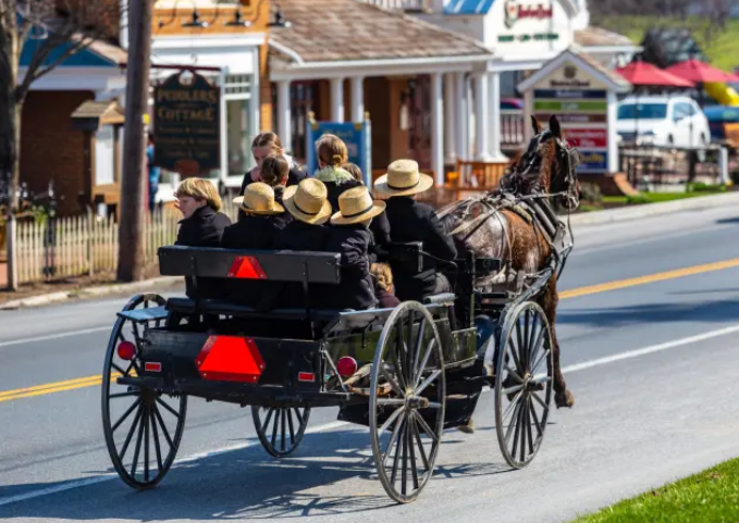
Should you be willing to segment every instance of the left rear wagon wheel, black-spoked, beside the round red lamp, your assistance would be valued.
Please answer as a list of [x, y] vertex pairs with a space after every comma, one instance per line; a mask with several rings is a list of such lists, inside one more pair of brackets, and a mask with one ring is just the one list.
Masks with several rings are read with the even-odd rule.
[[[163, 304], [161, 296], [139, 295], [123, 310]], [[135, 376], [140, 369], [140, 328], [123, 317], [113, 326], [102, 369], [102, 428], [118, 474], [131, 487], [146, 489], [155, 487], [172, 466], [185, 427], [187, 396], [118, 384], [118, 377]], [[131, 360], [119, 353], [124, 341], [135, 349]]]

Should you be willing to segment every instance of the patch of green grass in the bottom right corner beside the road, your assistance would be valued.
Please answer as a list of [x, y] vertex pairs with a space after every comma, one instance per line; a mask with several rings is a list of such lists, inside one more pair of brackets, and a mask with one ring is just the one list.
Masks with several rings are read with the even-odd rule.
[[736, 523], [739, 459], [620, 501], [572, 523]]

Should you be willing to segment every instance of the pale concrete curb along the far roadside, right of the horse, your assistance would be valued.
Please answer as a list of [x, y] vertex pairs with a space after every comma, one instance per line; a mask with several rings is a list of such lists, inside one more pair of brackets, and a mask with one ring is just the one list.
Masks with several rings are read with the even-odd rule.
[[[739, 192], [728, 192], [711, 196], [699, 196], [683, 200], [665, 201], [663, 203], [643, 203], [627, 209], [608, 209], [570, 216], [572, 225], [605, 225], [609, 223], [628, 222], [646, 216], [658, 216], [679, 211], [700, 211], [739, 204]], [[739, 212], [739, 210], [738, 210]], [[566, 216], [562, 216], [565, 217]]]

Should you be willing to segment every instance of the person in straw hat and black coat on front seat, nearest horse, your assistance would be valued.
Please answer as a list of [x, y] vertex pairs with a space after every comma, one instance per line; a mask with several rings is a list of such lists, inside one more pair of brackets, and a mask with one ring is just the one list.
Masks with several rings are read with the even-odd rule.
[[423, 297], [452, 290], [446, 276], [438, 272], [444, 261], [454, 261], [457, 249], [452, 238], [442, 229], [430, 206], [419, 203], [415, 195], [433, 185], [433, 178], [418, 171], [412, 160], [397, 160], [390, 164], [387, 174], [378, 178], [374, 190], [387, 195], [385, 210], [390, 221], [390, 235], [394, 242], [422, 241], [423, 270], [410, 270], [390, 260], [395, 277], [395, 290], [402, 300], [421, 301]]

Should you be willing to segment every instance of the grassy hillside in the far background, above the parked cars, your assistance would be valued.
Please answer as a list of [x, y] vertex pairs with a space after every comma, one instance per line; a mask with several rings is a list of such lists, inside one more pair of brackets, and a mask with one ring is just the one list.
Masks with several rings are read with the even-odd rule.
[[[739, 55], [737, 55], [739, 49], [738, 18], [727, 21], [724, 30], [712, 27], [709, 20], [703, 16], [688, 16], [685, 21], [657, 16], [608, 16], [593, 23], [593, 25], [620, 33], [629, 37], [635, 43], [641, 43], [644, 33], [651, 28], [689, 28], [712, 65], [729, 72], [739, 65]], [[711, 34], [711, 37], [707, 37], [709, 34]]]

